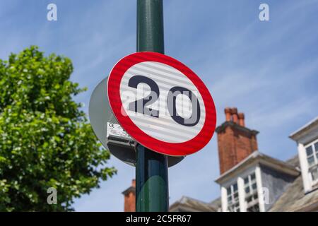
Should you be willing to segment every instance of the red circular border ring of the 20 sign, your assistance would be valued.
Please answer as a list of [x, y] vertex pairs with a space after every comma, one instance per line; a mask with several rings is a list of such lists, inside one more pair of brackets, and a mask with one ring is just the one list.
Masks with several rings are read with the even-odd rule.
[[[194, 85], [196, 85], [196, 88], [201, 93], [206, 109], [206, 119], [201, 131], [191, 140], [183, 143], [168, 143], [160, 141], [141, 131], [141, 129], [139, 129], [139, 127], [136, 126], [136, 124], [134, 124], [128, 116], [124, 116], [122, 114], [122, 100], [120, 98], [119, 90], [120, 82], [122, 81], [124, 73], [131, 66], [143, 61], [157, 61], [174, 67], [184, 73], [184, 75], [187, 76]], [[187, 66], [164, 54], [156, 52], [137, 52], [118, 61], [110, 72], [110, 76], [107, 81], [107, 96], [110, 101], [112, 112], [124, 130], [137, 142], [141, 143], [141, 145], [161, 154], [182, 156], [196, 153], [201, 148], [204, 148], [208, 141], [211, 140], [216, 129], [216, 107], [206, 85], [204, 85], [201, 79]]]

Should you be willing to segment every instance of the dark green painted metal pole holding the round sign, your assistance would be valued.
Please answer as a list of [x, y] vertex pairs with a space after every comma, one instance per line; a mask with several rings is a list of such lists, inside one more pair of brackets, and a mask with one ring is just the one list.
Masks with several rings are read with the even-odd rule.
[[[137, 52], [164, 53], [163, 0], [137, 0]], [[136, 211], [169, 208], [167, 156], [136, 148]]]

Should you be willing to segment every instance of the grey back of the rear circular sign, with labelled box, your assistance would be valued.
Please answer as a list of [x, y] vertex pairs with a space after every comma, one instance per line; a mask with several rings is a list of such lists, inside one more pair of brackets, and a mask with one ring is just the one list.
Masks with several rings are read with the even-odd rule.
[[[88, 115], [90, 125], [102, 145], [119, 160], [136, 164], [136, 141], [119, 125], [112, 113], [107, 97], [107, 78], [103, 79], [90, 96]], [[172, 167], [182, 161], [184, 156], [167, 156], [168, 166]]]

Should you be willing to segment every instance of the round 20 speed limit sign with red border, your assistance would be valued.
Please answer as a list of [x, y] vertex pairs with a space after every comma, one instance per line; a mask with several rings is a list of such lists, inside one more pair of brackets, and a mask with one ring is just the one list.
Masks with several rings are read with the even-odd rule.
[[216, 107], [206, 85], [164, 54], [137, 52], [121, 59], [108, 78], [107, 96], [123, 129], [165, 155], [195, 153], [216, 127]]

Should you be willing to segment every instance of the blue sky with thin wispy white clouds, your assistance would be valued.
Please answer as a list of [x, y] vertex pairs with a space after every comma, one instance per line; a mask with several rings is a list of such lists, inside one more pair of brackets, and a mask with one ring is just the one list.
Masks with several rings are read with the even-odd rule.
[[[47, 20], [47, 4], [58, 20]], [[270, 20], [259, 20], [259, 4]], [[317, 0], [164, 0], [165, 54], [206, 83], [224, 120], [225, 107], [245, 113], [260, 131], [259, 150], [281, 160], [297, 153], [289, 134], [318, 112]], [[136, 1], [0, 1], [0, 58], [36, 44], [73, 61], [72, 81], [88, 91], [76, 97], [87, 112], [90, 94], [122, 57], [136, 52]], [[118, 174], [76, 199], [78, 211], [122, 211], [121, 194], [134, 167], [112, 157]], [[182, 196], [212, 201], [220, 195], [216, 136], [169, 169], [170, 203]]]

